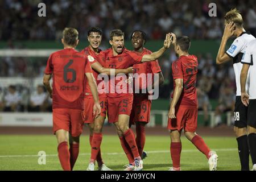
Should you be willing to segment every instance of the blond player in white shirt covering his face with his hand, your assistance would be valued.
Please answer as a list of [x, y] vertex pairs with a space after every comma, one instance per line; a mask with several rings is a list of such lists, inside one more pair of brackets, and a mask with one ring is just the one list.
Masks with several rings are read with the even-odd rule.
[[[246, 44], [254, 40], [254, 36], [246, 32], [243, 28], [243, 19], [240, 11], [237, 9], [230, 10], [224, 16], [225, 30], [222, 36], [220, 49], [216, 58], [217, 64], [226, 63], [233, 60], [234, 72], [236, 75], [236, 104], [234, 109], [234, 132], [237, 137], [238, 154], [240, 156], [241, 170], [249, 170], [249, 146], [247, 144], [247, 107], [241, 102], [240, 73], [242, 69], [242, 56], [245, 52]], [[235, 36], [236, 39], [225, 52], [226, 42], [229, 38]], [[247, 79], [246, 88], [248, 88]]]

